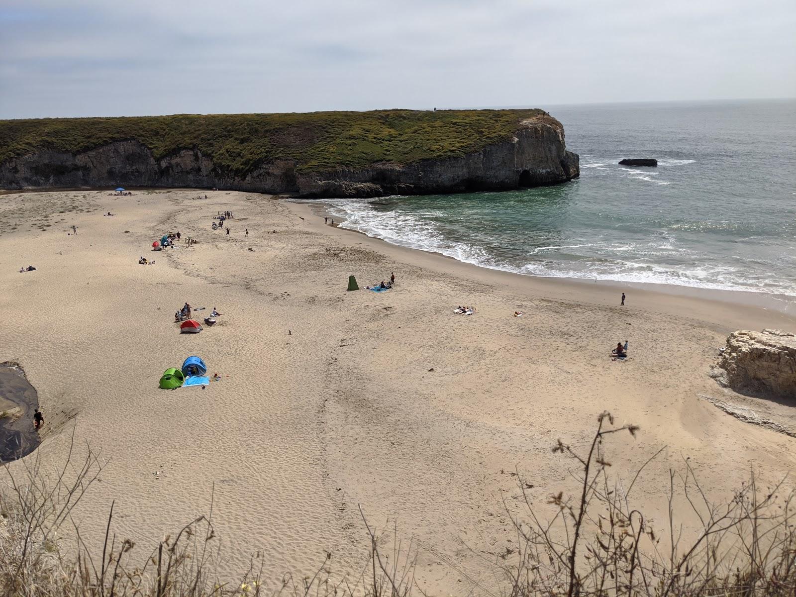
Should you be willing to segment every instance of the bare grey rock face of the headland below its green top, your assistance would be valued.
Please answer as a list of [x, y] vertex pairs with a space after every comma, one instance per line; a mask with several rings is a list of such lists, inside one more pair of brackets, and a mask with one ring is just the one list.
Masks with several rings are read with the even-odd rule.
[[0, 164], [0, 188], [190, 187], [290, 193], [298, 197], [378, 197], [555, 185], [579, 176], [579, 158], [564, 145], [564, 127], [548, 116], [521, 120], [513, 137], [455, 158], [374, 162], [359, 168], [299, 168], [264, 161], [230, 174], [201, 150], [156, 159], [135, 139], [80, 152], [39, 148]]

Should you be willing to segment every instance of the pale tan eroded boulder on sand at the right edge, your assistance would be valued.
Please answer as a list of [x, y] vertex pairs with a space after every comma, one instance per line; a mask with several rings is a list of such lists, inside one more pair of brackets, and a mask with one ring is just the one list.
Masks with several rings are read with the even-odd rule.
[[733, 332], [714, 377], [739, 392], [796, 400], [796, 334]]

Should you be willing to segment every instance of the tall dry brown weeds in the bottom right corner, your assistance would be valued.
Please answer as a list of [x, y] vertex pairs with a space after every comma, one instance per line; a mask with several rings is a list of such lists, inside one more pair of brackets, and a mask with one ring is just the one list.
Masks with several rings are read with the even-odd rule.
[[[615, 426], [609, 412], [598, 417], [588, 451], [558, 441], [552, 451], [578, 463], [576, 498], [564, 492], [548, 498], [555, 514], [545, 520], [519, 478], [527, 520], [509, 512], [517, 531], [517, 559], [502, 563], [511, 597], [696, 597], [696, 595], [796, 595], [794, 492], [782, 482], [761, 494], [755, 474], [726, 504], [708, 500], [693, 467], [670, 470], [668, 546], [659, 551], [660, 534], [631, 505], [630, 495], [642, 470], [626, 489], [607, 474], [608, 435], [639, 427]], [[678, 511], [677, 499], [689, 512]], [[687, 517], [699, 521], [696, 533], [684, 531]]]

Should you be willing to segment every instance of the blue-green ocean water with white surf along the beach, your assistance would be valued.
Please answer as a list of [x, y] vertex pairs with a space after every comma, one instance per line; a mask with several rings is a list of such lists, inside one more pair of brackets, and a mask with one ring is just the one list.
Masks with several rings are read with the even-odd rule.
[[796, 296], [796, 100], [545, 108], [580, 154], [576, 181], [337, 199], [330, 213], [394, 244], [522, 274]]

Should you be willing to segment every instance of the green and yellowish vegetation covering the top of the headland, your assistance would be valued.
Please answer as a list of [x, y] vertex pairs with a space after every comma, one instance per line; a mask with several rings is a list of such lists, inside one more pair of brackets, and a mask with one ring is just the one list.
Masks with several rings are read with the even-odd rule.
[[542, 115], [536, 109], [380, 110], [0, 120], [0, 163], [38, 149], [78, 153], [135, 139], [155, 159], [197, 149], [238, 176], [279, 159], [295, 160], [299, 171], [406, 164], [505, 141], [520, 120]]

